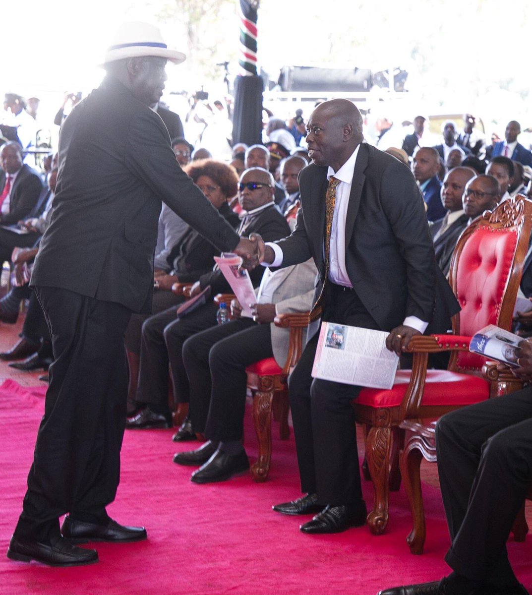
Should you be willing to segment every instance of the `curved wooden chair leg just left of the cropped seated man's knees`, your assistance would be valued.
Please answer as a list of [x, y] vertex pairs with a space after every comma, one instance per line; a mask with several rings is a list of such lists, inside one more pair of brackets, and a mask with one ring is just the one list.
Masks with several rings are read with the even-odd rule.
[[412, 531], [406, 537], [406, 543], [413, 554], [422, 554], [425, 544], [425, 509], [421, 493], [421, 460], [423, 455], [415, 443], [410, 443], [400, 453], [400, 468], [403, 485], [412, 512]]

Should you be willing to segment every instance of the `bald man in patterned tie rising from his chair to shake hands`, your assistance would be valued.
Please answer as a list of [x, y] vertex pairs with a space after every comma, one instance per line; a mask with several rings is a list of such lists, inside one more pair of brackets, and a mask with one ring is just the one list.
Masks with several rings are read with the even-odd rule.
[[[319, 317], [388, 331], [401, 353], [415, 334], [445, 330], [458, 311], [434, 260], [425, 208], [407, 167], [362, 142], [362, 117], [346, 99], [319, 105], [307, 123], [314, 164], [299, 177], [301, 208], [290, 237], [258, 245], [273, 266], [314, 258], [320, 273], [308, 336], [290, 377], [290, 406], [305, 496], [274, 506], [289, 514], [321, 511], [303, 533], [363, 525], [355, 414], [359, 387], [312, 380]], [[420, 151], [421, 152], [421, 151]], [[427, 330], [429, 332], [429, 330]]]

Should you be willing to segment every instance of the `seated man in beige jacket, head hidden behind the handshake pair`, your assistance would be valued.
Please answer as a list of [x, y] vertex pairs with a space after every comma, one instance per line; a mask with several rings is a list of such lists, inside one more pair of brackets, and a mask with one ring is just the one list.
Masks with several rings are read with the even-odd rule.
[[[192, 430], [208, 441], [199, 449], [178, 453], [174, 463], [201, 468], [195, 483], [225, 481], [249, 468], [242, 444], [246, 403], [246, 367], [261, 359], [276, 358], [284, 366], [289, 329], [273, 320], [283, 312], [311, 308], [317, 274], [312, 259], [271, 273], [266, 270], [256, 291], [253, 318], [240, 316], [231, 304], [233, 320], [190, 337], [183, 345], [183, 363], [191, 387], [189, 416]], [[170, 362], [178, 354], [168, 352]]]

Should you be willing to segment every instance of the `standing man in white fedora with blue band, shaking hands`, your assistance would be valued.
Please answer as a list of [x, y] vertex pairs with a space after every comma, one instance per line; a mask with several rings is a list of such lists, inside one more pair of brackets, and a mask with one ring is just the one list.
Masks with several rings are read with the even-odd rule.
[[74, 543], [146, 538], [106, 506], [126, 422], [124, 331], [132, 312], [151, 312], [161, 201], [217, 249], [255, 252], [181, 171], [149, 108], [162, 95], [167, 60], [184, 59], [157, 27], [124, 24], [105, 53], [101, 86], [61, 127], [53, 213], [32, 278], [55, 361], [11, 559], [89, 564], [96, 550]]

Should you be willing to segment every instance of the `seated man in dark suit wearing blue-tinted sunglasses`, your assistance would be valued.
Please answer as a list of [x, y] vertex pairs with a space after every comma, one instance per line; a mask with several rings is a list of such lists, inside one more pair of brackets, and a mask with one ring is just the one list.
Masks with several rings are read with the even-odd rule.
[[[237, 230], [240, 236], [257, 232], [276, 240], [290, 233], [286, 220], [273, 201], [273, 186], [273, 176], [262, 168], [254, 167], [242, 174], [239, 201], [246, 215]], [[252, 271], [251, 280], [254, 287], [258, 287], [261, 278], [262, 270]], [[217, 293], [231, 292], [229, 283], [218, 267], [214, 267], [211, 273], [202, 275], [196, 281], [192, 295], [196, 295], [207, 286], [211, 288], [211, 299], [185, 317], [176, 318], [176, 308], [172, 306], [144, 322], [136, 396], [139, 411], [128, 418], [127, 428], [170, 427], [168, 349], [177, 354], [170, 362], [174, 402], [189, 402], [189, 381], [183, 366], [181, 347], [192, 334], [216, 324], [217, 305], [212, 301], [212, 297]], [[173, 344], [171, 348], [170, 342]], [[188, 431], [186, 427], [183, 430]]]

